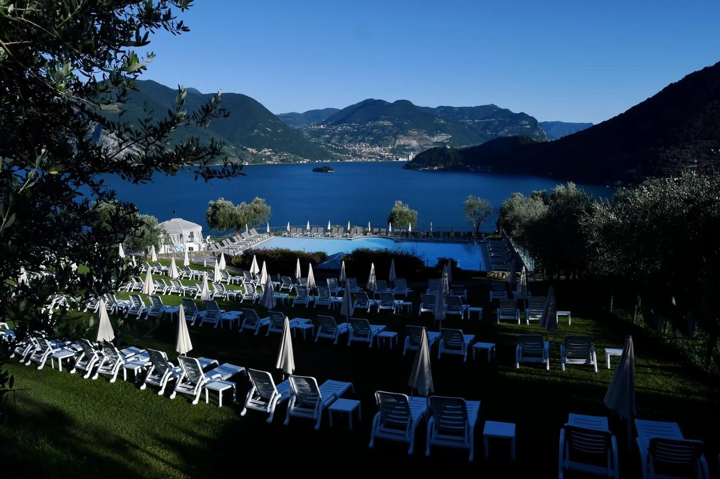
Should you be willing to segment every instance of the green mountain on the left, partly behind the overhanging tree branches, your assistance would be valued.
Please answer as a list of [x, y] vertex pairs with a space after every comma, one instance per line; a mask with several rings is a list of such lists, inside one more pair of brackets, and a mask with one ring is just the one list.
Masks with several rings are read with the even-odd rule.
[[[192, 89], [194, 90], [194, 89]], [[197, 91], [197, 90], [194, 90]], [[143, 117], [143, 104], [164, 115], [174, 107], [177, 91], [156, 81], [138, 81], [138, 91], [130, 92], [127, 110], [123, 119]], [[212, 97], [211, 94], [194, 93], [188, 89], [185, 107], [197, 109]], [[189, 126], [173, 133], [177, 142], [190, 136], [202, 141], [210, 138], [225, 143], [229, 156], [246, 161], [296, 161], [299, 159], [328, 160], [333, 156], [317, 143], [303, 138], [291, 127], [285, 125], [262, 104], [243, 94], [223, 93], [221, 106], [228, 109], [230, 116], [212, 120], [207, 128]], [[117, 114], [117, 109], [106, 110], [108, 115]]]

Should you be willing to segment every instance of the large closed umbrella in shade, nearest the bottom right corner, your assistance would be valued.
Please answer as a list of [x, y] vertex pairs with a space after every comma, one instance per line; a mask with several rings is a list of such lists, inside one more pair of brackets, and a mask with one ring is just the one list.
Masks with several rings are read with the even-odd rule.
[[628, 446], [632, 446], [632, 418], [635, 416], [635, 350], [632, 337], [625, 338], [620, 361], [605, 395], [605, 406], [628, 420]]

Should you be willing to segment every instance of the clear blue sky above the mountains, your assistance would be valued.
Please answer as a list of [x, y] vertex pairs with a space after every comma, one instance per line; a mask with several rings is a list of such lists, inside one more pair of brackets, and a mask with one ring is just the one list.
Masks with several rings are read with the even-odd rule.
[[600, 122], [720, 61], [720, 0], [196, 0], [144, 79], [271, 112], [366, 98]]

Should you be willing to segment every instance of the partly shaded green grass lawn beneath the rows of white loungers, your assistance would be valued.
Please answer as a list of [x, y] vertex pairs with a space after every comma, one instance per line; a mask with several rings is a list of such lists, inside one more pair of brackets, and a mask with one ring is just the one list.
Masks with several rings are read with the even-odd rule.
[[[187, 284], [192, 282], [186, 281]], [[533, 283], [536, 294], [547, 286]], [[324, 380], [343, 380], [354, 383], [354, 397], [361, 400], [362, 421], [354, 420], [354, 430], [348, 431], [346, 418], [338, 418], [330, 428], [327, 415], [320, 431], [312, 421], [292, 418], [289, 426], [282, 424], [283, 403], [277, 408], [272, 424], [266, 415], [248, 411], [240, 416], [249, 381], [242, 375], [238, 382], [238, 402], [232, 403], [226, 391], [222, 408], [217, 407], [217, 395], [211, 393], [210, 404], [204, 401], [193, 406], [187, 395], [173, 400], [158, 397], [156, 390], [140, 390], [132, 382], [120, 379], [110, 384], [106, 377], [83, 379], [35, 366], [26, 367], [14, 362], [9, 365], [19, 391], [6, 406], [6, 421], [0, 426], [0, 456], [4, 455], [7, 477], [219, 477], [228, 472], [264, 472], [265, 475], [292, 475], [315, 470], [326, 475], [326, 467], [338, 474], [346, 472], [379, 473], [382, 470], [404, 470], [408, 475], [430, 471], [467, 470], [489, 477], [552, 477], [557, 475], [559, 429], [568, 413], [582, 413], [610, 418], [611, 431], [618, 438], [620, 469], [623, 477], [639, 477], [637, 452], [626, 452], [626, 422], [603, 406], [603, 397], [612, 377], [612, 370], [604, 366], [603, 348], [622, 346], [627, 333], [633, 333], [636, 351], [637, 410], [640, 418], [677, 421], [685, 437], [706, 442], [706, 457], [711, 468], [716, 465], [718, 450], [718, 417], [712, 406], [711, 393], [702, 377], [680, 362], [672, 352], [645, 339], [639, 328], [617, 322], [601, 322], [601, 315], [582, 301], [563, 297], [559, 292], [559, 307], [572, 309], [572, 326], [561, 321], [557, 337], [564, 334], [593, 334], [600, 367], [598, 373], [589, 366], [567, 367], [560, 370], [559, 346], [552, 352], [551, 369], [541, 364], [522, 364], [515, 368], [515, 345], [518, 333], [543, 333], [537, 325], [495, 323], [495, 310], [487, 302], [486, 286], [469, 289], [469, 303], [485, 308], [485, 319], [478, 322], [451, 319], [444, 326], [462, 328], [474, 333], [480, 341], [495, 342], [497, 357], [488, 363], [485, 354], [467, 362], [459, 356], [437, 359], [437, 345], [433, 346], [432, 367], [435, 392], [438, 395], [460, 396], [481, 400], [480, 421], [475, 429], [475, 462], [467, 461], [467, 451], [434, 447], [426, 457], [424, 424], [416, 432], [415, 454], [407, 454], [407, 444], [378, 439], [369, 449], [369, 431], [377, 411], [374, 391], [386, 390], [410, 393], [408, 377], [414, 353], [402, 356], [402, 340], [406, 324], [418, 324], [435, 329], [431, 315], [393, 315], [387, 311], [356, 313], [374, 324], [387, 324], [390, 331], [400, 333], [400, 347], [383, 345], [369, 349], [365, 344], [347, 346], [330, 340], [319, 343], [310, 338], [294, 339], [294, 356], [298, 375]], [[559, 290], [562, 291], [562, 290]], [[121, 293], [119, 297], [127, 297]], [[166, 304], [179, 304], [180, 298], [163, 297]], [[417, 308], [419, 295], [413, 294]], [[234, 302], [233, 302], [234, 303]], [[249, 303], [242, 307], [248, 307]], [[238, 303], [221, 303], [226, 310], [239, 309]], [[259, 306], [253, 306], [264, 310]], [[279, 307], [289, 318], [315, 318], [328, 314], [325, 308]], [[262, 312], [262, 311], [261, 311]], [[331, 315], [340, 318], [338, 311]], [[114, 318], [112, 318], [114, 321]], [[339, 321], [338, 321], [339, 322]], [[147, 331], [147, 325], [141, 326]], [[88, 335], [94, 339], [94, 331]], [[164, 350], [172, 359], [176, 356], [176, 322], [169, 321], [148, 336], [133, 339], [130, 331], [122, 331], [123, 338], [142, 347]], [[274, 369], [279, 334], [269, 337], [263, 333], [238, 333], [214, 329], [211, 326], [190, 328], [194, 349], [190, 356], [204, 356], [245, 367], [271, 371]], [[345, 336], [346, 339], [346, 336]], [[549, 338], [552, 339], [552, 338]], [[613, 357], [613, 367], [618, 358]], [[69, 370], [69, 368], [68, 368]], [[170, 389], [166, 396], [170, 395]], [[203, 396], [204, 397], [204, 396]], [[226, 407], [226, 406], [227, 407]], [[517, 424], [517, 458], [509, 460], [509, 444], [492, 442], [490, 459], [482, 451], [482, 427], [485, 420], [508, 421]], [[329, 463], [329, 465], [328, 465]], [[9, 468], [9, 469], [8, 469]]]

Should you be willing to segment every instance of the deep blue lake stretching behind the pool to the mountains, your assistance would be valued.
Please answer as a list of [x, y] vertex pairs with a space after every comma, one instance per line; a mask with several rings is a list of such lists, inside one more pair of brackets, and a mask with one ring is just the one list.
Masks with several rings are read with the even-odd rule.
[[[224, 197], [234, 203], [265, 198], [272, 207], [270, 225], [367, 225], [387, 227], [387, 214], [395, 200], [418, 210], [418, 225], [413, 229], [467, 228], [462, 207], [467, 195], [487, 198], [493, 206], [513, 192], [528, 194], [536, 189], [552, 189], [553, 179], [534, 176], [508, 176], [467, 172], [415, 171], [402, 169], [404, 162], [334, 163], [334, 173], [316, 173], [315, 164], [251, 165], [243, 168], [247, 176], [235, 179], [195, 181], [193, 175], [156, 174], [153, 183], [131, 184], [117, 176], [105, 176], [107, 187], [118, 197], [135, 203], [141, 213], [159, 221], [178, 218], [199, 223], [204, 234], [207, 202]], [[612, 188], [585, 187], [599, 197], [607, 197]], [[406, 228], [407, 225], [397, 225]], [[494, 230], [488, 224], [485, 230]]]

